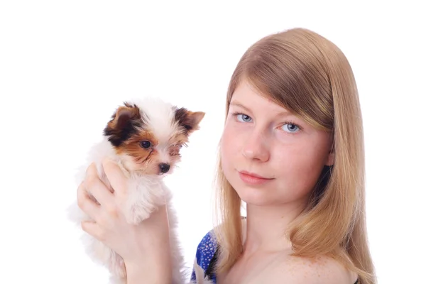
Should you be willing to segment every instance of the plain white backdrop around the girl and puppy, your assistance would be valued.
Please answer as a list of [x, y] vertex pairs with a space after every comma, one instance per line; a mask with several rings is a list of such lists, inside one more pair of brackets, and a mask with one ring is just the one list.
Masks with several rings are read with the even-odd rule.
[[207, 113], [167, 180], [192, 263], [212, 228], [231, 72], [249, 45], [293, 27], [329, 38], [353, 67], [379, 283], [426, 283], [423, 4], [226, 2], [1, 1], [0, 283], [107, 282], [65, 207], [75, 199], [75, 168], [111, 111], [145, 95]]

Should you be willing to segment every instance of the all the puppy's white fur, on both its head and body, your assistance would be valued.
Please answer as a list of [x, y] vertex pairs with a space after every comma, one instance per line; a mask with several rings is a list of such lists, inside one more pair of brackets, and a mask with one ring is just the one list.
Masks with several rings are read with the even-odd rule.
[[[173, 125], [173, 111], [170, 109], [170, 105], [164, 104], [160, 101], [155, 100], [144, 100], [143, 102], [133, 100], [139, 106], [143, 106], [143, 113], [147, 114], [149, 119], [149, 125], [155, 130], [155, 136], [161, 136], [161, 138], [167, 138], [170, 131], [175, 131], [175, 125]], [[97, 165], [99, 177], [107, 182], [104, 172], [102, 170], [102, 160], [104, 158], [111, 158], [115, 160], [121, 168], [127, 173], [129, 177], [129, 198], [122, 208], [127, 222], [131, 224], [137, 224], [143, 219], [146, 219], [160, 204], [167, 202], [168, 204], [168, 217], [170, 222], [170, 247], [172, 249], [171, 255], [173, 257], [173, 284], [185, 283], [187, 278], [184, 268], [184, 258], [182, 251], [178, 244], [177, 236], [177, 217], [175, 210], [170, 205], [171, 193], [168, 187], [165, 186], [162, 177], [159, 175], [141, 175], [129, 173], [126, 171], [123, 165], [123, 158], [116, 155], [114, 148], [111, 146], [107, 138], [104, 138], [101, 142], [94, 145], [89, 151], [87, 163], [82, 166], [80, 172], [77, 174], [77, 185], [84, 180], [85, 171], [87, 166], [94, 162]], [[83, 220], [89, 219], [77, 206], [77, 202], [72, 204], [70, 207], [70, 219], [80, 226]], [[111, 273], [110, 283], [126, 283], [126, 271], [124, 268], [124, 261], [117, 253], [109, 249], [102, 242], [97, 241], [89, 234], [83, 235], [83, 244], [87, 251], [87, 254], [92, 258], [93, 261], [106, 266]], [[143, 283], [143, 279], [141, 279]]]

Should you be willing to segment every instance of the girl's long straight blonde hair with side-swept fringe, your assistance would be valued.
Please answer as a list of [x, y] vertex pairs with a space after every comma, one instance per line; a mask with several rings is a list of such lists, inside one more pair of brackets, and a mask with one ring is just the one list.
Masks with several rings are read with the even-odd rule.
[[[229, 82], [226, 114], [241, 80], [308, 124], [333, 136], [334, 165], [324, 167], [310, 203], [291, 224], [293, 256], [327, 255], [376, 283], [365, 216], [364, 133], [358, 91], [342, 51], [321, 35], [293, 28], [268, 35], [244, 53]], [[241, 199], [217, 165], [217, 273], [243, 251]]]

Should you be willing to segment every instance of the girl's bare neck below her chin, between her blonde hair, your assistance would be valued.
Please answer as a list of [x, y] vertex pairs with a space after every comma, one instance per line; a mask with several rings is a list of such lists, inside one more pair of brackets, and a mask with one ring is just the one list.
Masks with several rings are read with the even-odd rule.
[[287, 229], [306, 206], [306, 202], [277, 206], [247, 204], [245, 253], [291, 249]]

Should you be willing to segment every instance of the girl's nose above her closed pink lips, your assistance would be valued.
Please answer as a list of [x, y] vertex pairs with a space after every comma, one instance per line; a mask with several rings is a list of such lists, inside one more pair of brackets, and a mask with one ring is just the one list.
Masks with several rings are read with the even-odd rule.
[[243, 146], [244, 157], [251, 160], [266, 162], [269, 160], [269, 148], [263, 133], [253, 131]]

